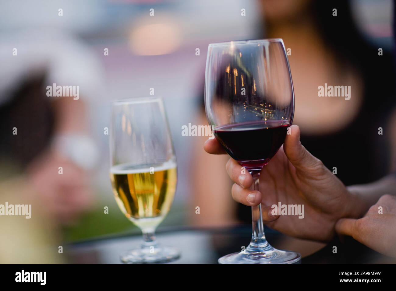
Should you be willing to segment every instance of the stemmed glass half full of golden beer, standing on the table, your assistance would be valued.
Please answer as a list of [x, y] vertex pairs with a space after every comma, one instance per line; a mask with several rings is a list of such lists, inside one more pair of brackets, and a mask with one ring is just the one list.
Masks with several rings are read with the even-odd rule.
[[116, 101], [110, 126], [110, 179], [125, 216], [143, 232], [137, 249], [121, 254], [125, 263], [168, 262], [180, 257], [155, 240], [176, 191], [176, 158], [162, 99]]

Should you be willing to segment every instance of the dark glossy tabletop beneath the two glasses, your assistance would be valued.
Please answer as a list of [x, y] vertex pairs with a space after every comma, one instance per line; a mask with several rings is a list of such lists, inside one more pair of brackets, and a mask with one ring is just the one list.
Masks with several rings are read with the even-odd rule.
[[[285, 240], [290, 238], [265, 228], [268, 242], [274, 247], [282, 248]], [[181, 258], [171, 263], [176, 264], [216, 264], [217, 259], [228, 253], [240, 251], [242, 246], [249, 244], [251, 226], [230, 228], [168, 228], [157, 232], [157, 240], [163, 245], [177, 247]], [[98, 238], [84, 242], [76, 242], [67, 246], [71, 263], [110, 263], [118, 264], [120, 253], [139, 247], [141, 234], [130, 234]], [[282, 244], [283, 243], [283, 244]], [[293, 243], [288, 249], [300, 251], [305, 243]], [[308, 242], [306, 244], [309, 248]], [[334, 253], [334, 246], [337, 253]], [[315, 252], [306, 255], [302, 263], [395, 263], [396, 259], [381, 255], [352, 238], [335, 238], [322, 249], [316, 245]], [[303, 253], [302, 251], [300, 251]], [[312, 252], [310, 252], [312, 253]]]

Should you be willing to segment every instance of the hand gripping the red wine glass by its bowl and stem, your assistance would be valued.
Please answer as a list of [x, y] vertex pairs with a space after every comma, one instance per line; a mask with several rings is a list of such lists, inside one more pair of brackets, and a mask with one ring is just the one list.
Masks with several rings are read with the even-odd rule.
[[[293, 125], [290, 129], [291, 134], [286, 135], [283, 147], [261, 170], [259, 191], [249, 189], [252, 176], [248, 172], [241, 175], [240, 164], [230, 158], [226, 168], [235, 182], [232, 197], [248, 206], [261, 203], [264, 222], [284, 234], [309, 240], [331, 240], [337, 220], [362, 217], [366, 205], [301, 145], [299, 127]], [[208, 140], [204, 148], [210, 154], [225, 154], [216, 139]], [[251, 201], [249, 194], [254, 195]], [[304, 218], [272, 216], [271, 205], [279, 201], [304, 204]]]

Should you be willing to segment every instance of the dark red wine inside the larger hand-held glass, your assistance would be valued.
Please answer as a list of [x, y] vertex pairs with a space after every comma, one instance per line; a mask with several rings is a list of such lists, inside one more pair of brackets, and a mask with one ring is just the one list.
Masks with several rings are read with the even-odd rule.
[[288, 120], [260, 120], [215, 127], [213, 133], [226, 152], [250, 171], [268, 164], [289, 126]]

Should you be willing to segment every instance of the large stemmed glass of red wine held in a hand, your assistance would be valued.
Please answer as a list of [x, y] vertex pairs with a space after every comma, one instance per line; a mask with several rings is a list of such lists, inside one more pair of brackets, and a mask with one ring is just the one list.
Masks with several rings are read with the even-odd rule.
[[[209, 44], [205, 72], [205, 109], [209, 125], [226, 152], [253, 176], [284, 143], [293, 121], [294, 93], [283, 40], [243, 40]], [[213, 127], [212, 127], [213, 128]], [[264, 193], [265, 194], [265, 193]], [[296, 263], [299, 253], [272, 247], [265, 239], [261, 204], [252, 207], [251, 242], [223, 264]]]

